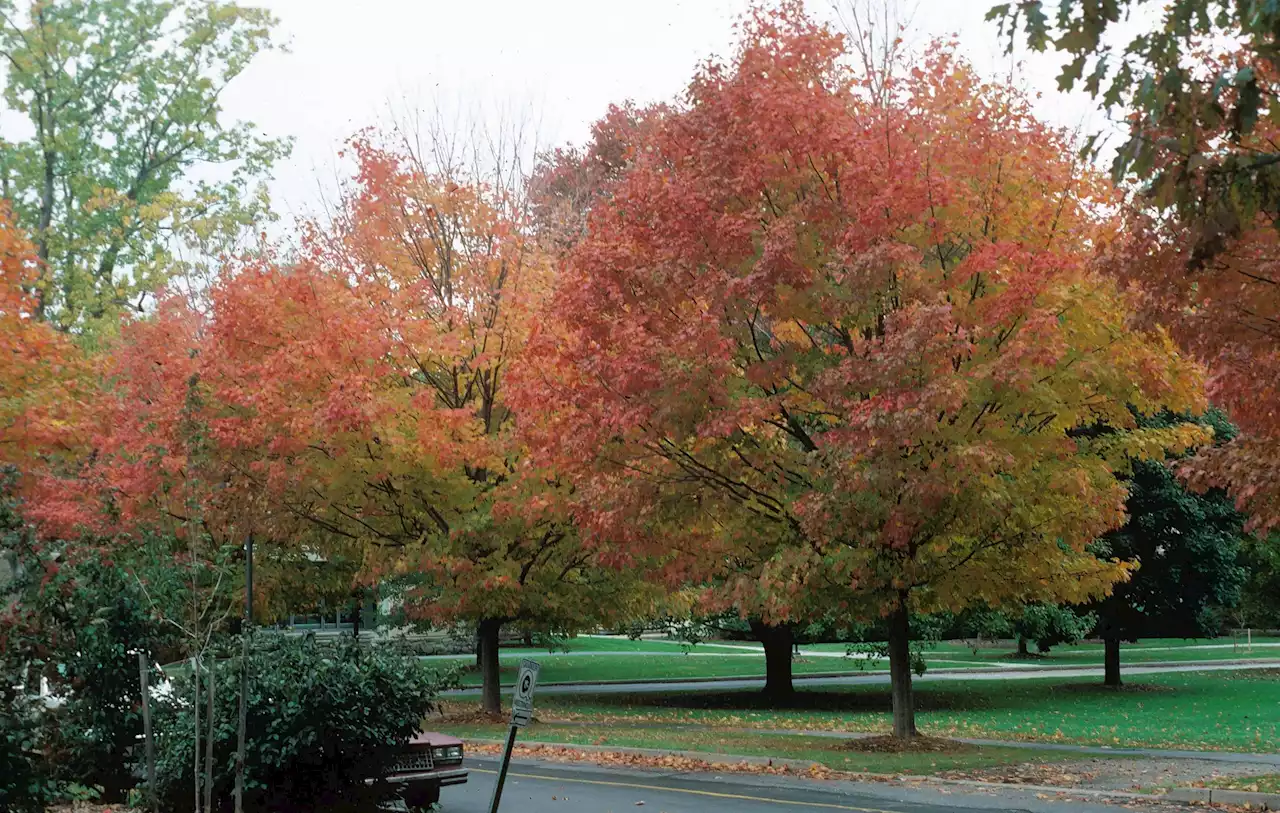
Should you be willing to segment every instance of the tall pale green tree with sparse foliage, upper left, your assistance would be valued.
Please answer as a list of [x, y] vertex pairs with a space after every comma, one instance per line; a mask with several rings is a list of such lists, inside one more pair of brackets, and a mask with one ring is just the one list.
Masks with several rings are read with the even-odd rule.
[[223, 0], [0, 0], [10, 198], [44, 271], [36, 312], [91, 333], [266, 214], [261, 181], [288, 149], [228, 123], [221, 96], [274, 18]]

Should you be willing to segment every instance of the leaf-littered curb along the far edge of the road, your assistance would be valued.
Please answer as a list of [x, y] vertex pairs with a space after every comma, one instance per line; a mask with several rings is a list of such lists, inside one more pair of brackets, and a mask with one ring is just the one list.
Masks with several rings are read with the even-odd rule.
[[[506, 745], [504, 740], [490, 740], [490, 739], [466, 739], [466, 743], [474, 743], [477, 745]], [[696, 759], [699, 762], [707, 763], [708, 766], [739, 766], [739, 764], [758, 764], [758, 766], [782, 766], [796, 771], [799, 775], [804, 775], [813, 766], [820, 766], [822, 763], [813, 762], [812, 759], [782, 759], [774, 757], [753, 757], [746, 754], [718, 754], [712, 752], [691, 752], [691, 750], [672, 750], [663, 748], [614, 748], [609, 745], [577, 745], [573, 743], [543, 743], [539, 740], [529, 740], [520, 743], [521, 745], [529, 745], [535, 748], [553, 748], [561, 750], [577, 750], [586, 752], [591, 754], [634, 754], [637, 757], [685, 757], [689, 759]], [[982, 782], [978, 780], [948, 780], [937, 776], [916, 776], [910, 773], [863, 773], [854, 771], [835, 771], [842, 777], [852, 777], [854, 781], [877, 781], [877, 782], [896, 782], [901, 785], [950, 785], [959, 787], [975, 787], [983, 790], [1018, 790], [1025, 793], [1039, 793], [1039, 794], [1059, 794], [1064, 796], [1087, 796], [1089, 799], [1114, 799], [1116, 801], [1181, 801], [1174, 795], [1157, 796], [1153, 794], [1134, 794], [1121, 790], [1094, 790], [1089, 787], [1060, 787], [1056, 785], [1019, 785], [1014, 782]], [[1192, 789], [1199, 790], [1199, 789]], [[1208, 793], [1207, 790], [1204, 791]], [[1251, 795], [1251, 794], [1245, 794]], [[1252, 794], [1256, 796], [1266, 796], [1272, 794]], [[1280, 799], [1280, 796], [1275, 796]]]

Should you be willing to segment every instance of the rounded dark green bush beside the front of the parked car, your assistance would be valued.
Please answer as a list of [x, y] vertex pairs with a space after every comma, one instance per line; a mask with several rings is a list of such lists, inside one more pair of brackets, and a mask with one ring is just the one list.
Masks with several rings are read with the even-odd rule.
[[[412, 656], [361, 649], [349, 639], [262, 643], [250, 656], [246, 809], [372, 809], [376, 799], [364, 789], [364, 778], [378, 776], [396, 749], [419, 731], [452, 680]], [[218, 662], [215, 684], [214, 799], [215, 805], [229, 808], [239, 658]], [[192, 694], [189, 672], [175, 676], [172, 695], [156, 709], [156, 791], [165, 810], [193, 807]], [[201, 717], [206, 708], [202, 700]], [[371, 794], [385, 790], [379, 786]]]

